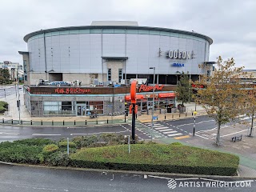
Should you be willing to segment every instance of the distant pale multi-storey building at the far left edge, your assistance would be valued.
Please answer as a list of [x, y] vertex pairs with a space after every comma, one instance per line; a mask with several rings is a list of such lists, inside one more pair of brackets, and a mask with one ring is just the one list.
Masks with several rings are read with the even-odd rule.
[[12, 81], [17, 81], [17, 78], [22, 78], [24, 74], [23, 67], [18, 62], [0, 62], [0, 69], [8, 69], [10, 73], [10, 80]]

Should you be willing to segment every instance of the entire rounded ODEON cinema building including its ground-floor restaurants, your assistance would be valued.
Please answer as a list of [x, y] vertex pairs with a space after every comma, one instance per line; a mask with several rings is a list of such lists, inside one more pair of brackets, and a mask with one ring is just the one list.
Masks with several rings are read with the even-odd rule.
[[[25, 104], [31, 116], [123, 114], [130, 80], [138, 79], [138, 110], [175, 106], [182, 72], [210, 75], [206, 35], [138, 26], [137, 22], [92, 22], [26, 34], [23, 57]], [[201, 65], [202, 67], [199, 67]], [[155, 77], [155, 82], [153, 79]], [[72, 86], [38, 86], [39, 79]], [[78, 83], [80, 82], [80, 83]], [[153, 85], [155, 94], [153, 95]], [[155, 98], [153, 104], [152, 99]]]

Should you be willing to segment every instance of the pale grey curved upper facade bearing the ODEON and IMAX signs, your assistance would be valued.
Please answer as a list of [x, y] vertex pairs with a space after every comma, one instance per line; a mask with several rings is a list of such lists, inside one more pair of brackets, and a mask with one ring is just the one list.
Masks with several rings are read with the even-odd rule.
[[[137, 22], [92, 22], [38, 30], [24, 37], [26, 84], [39, 79], [82, 85], [126, 84], [131, 78], [176, 85], [182, 72], [197, 79], [211, 74], [210, 44], [206, 35], [184, 30], [138, 26]], [[203, 64], [206, 67], [199, 67]], [[150, 67], [155, 70], [150, 69]]]

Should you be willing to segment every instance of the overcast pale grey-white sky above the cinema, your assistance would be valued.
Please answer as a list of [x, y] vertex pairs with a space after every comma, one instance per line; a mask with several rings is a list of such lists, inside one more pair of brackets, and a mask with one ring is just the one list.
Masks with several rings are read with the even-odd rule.
[[255, 0], [1, 0], [0, 14], [0, 62], [22, 64], [23, 37], [36, 30], [136, 21], [205, 34], [214, 40], [210, 61], [220, 55], [256, 70]]

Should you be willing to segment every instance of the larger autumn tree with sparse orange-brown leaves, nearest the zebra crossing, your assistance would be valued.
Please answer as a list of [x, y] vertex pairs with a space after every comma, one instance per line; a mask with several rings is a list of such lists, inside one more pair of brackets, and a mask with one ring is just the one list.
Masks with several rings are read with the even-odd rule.
[[195, 102], [200, 103], [206, 109], [207, 114], [216, 121], [217, 146], [221, 144], [221, 125], [234, 120], [244, 108], [245, 91], [242, 89], [241, 78], [238, 78], [243, 67], [234, 65], [234, 58], [223, 62], [219, 56], [214, 73], [211, 76], [202, 75], [201, 81], [196, 82], [197, 86], [205, 86], [198, 90]]

